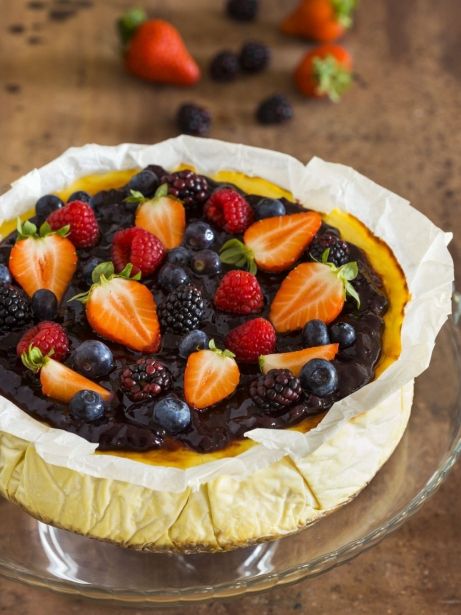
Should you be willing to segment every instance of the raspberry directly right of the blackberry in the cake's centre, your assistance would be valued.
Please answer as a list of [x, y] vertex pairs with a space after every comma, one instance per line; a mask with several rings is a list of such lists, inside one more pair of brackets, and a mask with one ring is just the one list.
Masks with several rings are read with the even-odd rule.
[[226, 273], [216, 290], [214, 304], [223, 312], [252, 314], [264, 305], [264, 297], [256, 276], [233, 269]]

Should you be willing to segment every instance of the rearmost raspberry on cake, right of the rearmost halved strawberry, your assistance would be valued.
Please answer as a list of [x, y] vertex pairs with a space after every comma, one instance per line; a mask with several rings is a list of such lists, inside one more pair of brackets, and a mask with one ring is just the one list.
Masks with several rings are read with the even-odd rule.
[[226, 233], [243, 233], [254, 219], [247, 201], [232, 188], [220, 188], [205, 203], [204, 214]]

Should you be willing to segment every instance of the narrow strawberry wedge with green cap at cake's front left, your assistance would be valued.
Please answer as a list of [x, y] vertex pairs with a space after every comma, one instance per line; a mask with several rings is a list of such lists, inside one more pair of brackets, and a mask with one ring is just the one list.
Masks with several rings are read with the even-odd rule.
[[24, 352], [21, 360], [28, 369], [40, 372], [42, 392], [47, 397], [68, 403], [79, 391], [90, 390], [99, 393], [105, 401], [112, 398], [110, 391], [74, 372], [70, 367], [43, 355], [42, 351], [35, 346]]

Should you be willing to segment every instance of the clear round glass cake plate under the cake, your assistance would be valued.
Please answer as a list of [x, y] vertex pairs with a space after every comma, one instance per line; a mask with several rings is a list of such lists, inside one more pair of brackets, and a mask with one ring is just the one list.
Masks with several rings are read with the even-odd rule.
[[418, 378], [398, 448], [362, 493], [306, 530], [216, 554], [128, 551], [57, 530], [0, 499], [0, 573], [30, 585], [120, 605], [223, 599], [324, 573], [372, 547], [431, 497], [461, 451], [461, 329], [442, 329]]

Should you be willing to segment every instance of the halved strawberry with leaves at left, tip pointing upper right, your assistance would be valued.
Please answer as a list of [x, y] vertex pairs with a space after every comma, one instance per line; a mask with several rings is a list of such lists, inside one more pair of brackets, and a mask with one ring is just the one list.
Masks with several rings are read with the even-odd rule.
[[315, 211], [264, 218], [245, 231], [243, 244], [238, 239], [227, 241], [221, 249], [221, 260], [252, 273], [256, 266], [263, 271], [284, 271], [298, 260], [321, 224], [322, 218]]

